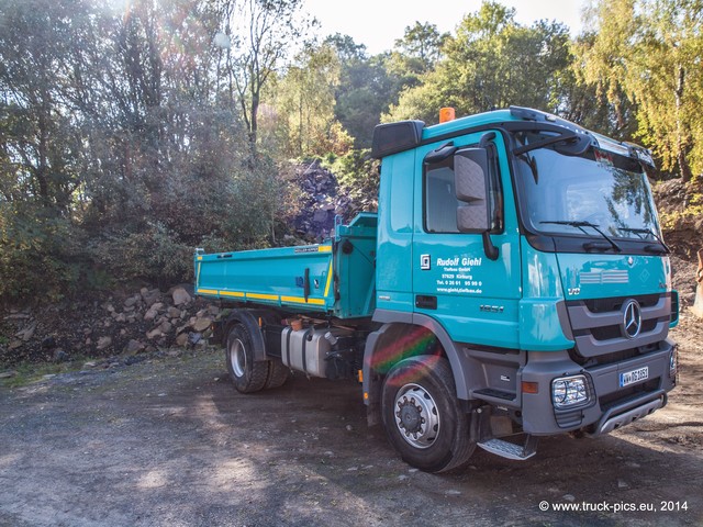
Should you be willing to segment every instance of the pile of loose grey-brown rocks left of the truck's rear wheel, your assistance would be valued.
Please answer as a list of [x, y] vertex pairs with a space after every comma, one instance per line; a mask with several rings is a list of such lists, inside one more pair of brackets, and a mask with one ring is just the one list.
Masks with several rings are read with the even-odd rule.
[[193, 298], [191, 285], [15, 310], [0, 321], [0, 366], [198, 346], [219, 314], [219, 306]]

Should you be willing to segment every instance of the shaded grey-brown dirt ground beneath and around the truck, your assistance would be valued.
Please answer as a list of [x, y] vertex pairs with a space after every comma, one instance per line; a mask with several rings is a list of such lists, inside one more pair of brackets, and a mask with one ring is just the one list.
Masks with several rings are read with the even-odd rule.
[[217, 350], [0, 388], [0, 526], [703, 525], [703, 321], [673, 337], [666, 408], [447, 475], [366, 426], [357, 384], [241, 395]]

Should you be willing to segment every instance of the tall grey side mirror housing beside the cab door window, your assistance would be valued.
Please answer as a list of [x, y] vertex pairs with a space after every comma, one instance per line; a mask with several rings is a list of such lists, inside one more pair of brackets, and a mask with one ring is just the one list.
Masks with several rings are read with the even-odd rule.
[[488, 152], [466, 148], [454, 156], [454, 181], [457, 199], [457, 228], [460, 233], [486, 233], [491, 228], [489, 210]]

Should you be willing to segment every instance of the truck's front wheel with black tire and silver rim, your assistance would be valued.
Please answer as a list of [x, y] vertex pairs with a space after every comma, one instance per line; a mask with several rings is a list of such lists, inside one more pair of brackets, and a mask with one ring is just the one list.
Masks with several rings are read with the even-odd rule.
[[423, 355], [395, 365], [383, 382], [381, 411], [389, 441], [420, 470], [458, 469], [476, 449], [445, 358]]

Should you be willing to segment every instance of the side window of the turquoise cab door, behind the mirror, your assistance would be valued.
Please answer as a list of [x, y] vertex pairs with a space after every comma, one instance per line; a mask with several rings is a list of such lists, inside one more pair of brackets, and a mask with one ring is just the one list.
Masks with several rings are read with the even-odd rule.
[[[503, 231], [503, 199], [498, 152], [489, 145], [489, 206], [491, 233]], [[454, 156], [438, 162], [425, 164], [424, 168], [424, 225], [427, 233], [456, 234], [457, 206], [460, 205], [454, 186]]]

